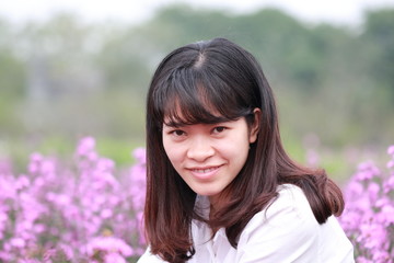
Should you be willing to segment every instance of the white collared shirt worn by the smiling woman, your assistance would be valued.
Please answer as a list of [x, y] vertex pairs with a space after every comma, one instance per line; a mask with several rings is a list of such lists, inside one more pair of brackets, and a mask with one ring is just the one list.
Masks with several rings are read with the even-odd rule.
[[[209, 202], [199, 196], [197, 204]], [[209, 203], [208, 203], [209, 205]], [[320, 225], [302, 190], [279, 186], [278, 198], [257, 213], [242, 231], [234, 249], [224, 228], [213, 239], [201, 221], [192, 222], [195, 255], [188, 263], [354, 263], [352, 244], [335, 217]], [[163, 263], [149, 248], [138, 263]]]

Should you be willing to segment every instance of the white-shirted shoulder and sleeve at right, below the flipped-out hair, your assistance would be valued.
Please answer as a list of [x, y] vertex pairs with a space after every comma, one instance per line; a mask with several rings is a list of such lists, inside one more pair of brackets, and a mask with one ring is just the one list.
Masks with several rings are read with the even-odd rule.
[[278, 196], [248, 221], [239, 251], [251, 262], [354, 262], [336, 219], [320, 225], [303, 191], [291, 184], [278, 186]]

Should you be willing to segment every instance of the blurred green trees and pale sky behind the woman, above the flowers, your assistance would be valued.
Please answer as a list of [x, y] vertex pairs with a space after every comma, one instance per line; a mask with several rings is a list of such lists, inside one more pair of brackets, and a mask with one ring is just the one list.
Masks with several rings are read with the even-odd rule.
[[14, 0], [0, 3], [0, 159], [24, 171], [93, 136], [130, 163], [158, 62], [217, 36], [260, 61], [296, 160], [341, 182], [394, 142], [394, 0]]

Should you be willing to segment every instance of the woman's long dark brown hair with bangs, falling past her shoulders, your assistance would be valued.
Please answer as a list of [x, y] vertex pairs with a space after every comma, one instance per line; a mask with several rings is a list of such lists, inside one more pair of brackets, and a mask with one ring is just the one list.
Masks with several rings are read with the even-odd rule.
[[[216, 123], [245, 116], [252, 125], [256, 107], [262, 112], [257, 140], [251, 145], [245, 165], [225, 188], [225, 206], [204, 219], [194, 207], [196, 193], [166, 157], [163, 122]], [[147, 165], [146, 233], [152, 253], [167, 262], [186, 262], [195, 253], [193, 219], [205, 220], [212, 228], [224, 227], [236, 248], [246, 224], [277, 197], [280, 184], [301, 187], [320, 224], [344, 209], [339, 187], [323, 170], [297, 164], [286, 153], [274, 93], [259, 64], [224, 38], [179, 47], [159, 65], [147, 99]]]

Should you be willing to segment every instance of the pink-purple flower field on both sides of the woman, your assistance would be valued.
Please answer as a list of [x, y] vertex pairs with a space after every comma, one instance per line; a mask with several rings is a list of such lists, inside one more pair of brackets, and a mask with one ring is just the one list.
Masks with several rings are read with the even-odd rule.
[[[386, 168], [361, 163], [344, 188], [339, 218], [356, 262], [393, 263], [394, 146]], [[136, 262], [144, 251], [144, 150], [116, 168], [81, 139], [68, 162], [31, 156], [24, 174], [0, 161], [0, 262]]]

